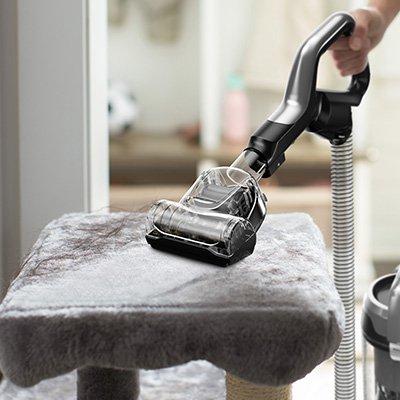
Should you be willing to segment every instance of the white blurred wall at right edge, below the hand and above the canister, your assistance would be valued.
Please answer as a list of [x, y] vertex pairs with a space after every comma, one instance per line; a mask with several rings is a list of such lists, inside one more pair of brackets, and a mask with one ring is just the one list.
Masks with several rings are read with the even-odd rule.
[[372, 249], [378, 259], [400, 260], [400, 18], [371, 55], [368, 142], [379, 152], [372, 164]]

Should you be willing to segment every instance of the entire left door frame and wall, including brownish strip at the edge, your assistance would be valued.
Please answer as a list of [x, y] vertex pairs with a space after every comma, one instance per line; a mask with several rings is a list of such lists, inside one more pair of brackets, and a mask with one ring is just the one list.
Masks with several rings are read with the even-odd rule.
[[109, 204], [107, 1], [0, 0], [2, 287], [38, 233]]

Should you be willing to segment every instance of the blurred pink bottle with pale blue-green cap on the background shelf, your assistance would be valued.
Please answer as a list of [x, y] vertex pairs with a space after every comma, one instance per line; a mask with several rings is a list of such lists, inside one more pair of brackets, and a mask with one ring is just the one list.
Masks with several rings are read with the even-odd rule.
[[244, 144], [250, 133], [250, 104], [243, 78], [231, 74], [224, 100], [223, 135], [227, 142]]

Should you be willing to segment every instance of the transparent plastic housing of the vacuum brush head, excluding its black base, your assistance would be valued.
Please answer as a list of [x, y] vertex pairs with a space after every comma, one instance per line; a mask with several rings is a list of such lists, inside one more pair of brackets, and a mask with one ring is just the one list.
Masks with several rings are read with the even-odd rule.
[[230, 255], [258, 229], [248, 218], [260, 196], [258, 183], [249, 173], [214, 168], [201, 174], [179, 203], [155, 203], [148, 214], [148, 232]]

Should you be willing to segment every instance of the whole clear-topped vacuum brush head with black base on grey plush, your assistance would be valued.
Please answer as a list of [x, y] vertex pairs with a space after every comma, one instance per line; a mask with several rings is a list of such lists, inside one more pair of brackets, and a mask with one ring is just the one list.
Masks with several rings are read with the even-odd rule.
[[154, 248], [225, 266], [253, 252], [265, 212], [258, 184], [247, 172], [215, 168], [179, 203], [153, 205], [146, 239]]

